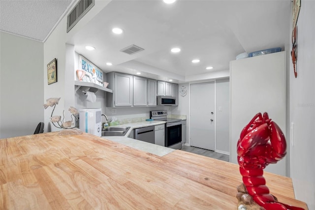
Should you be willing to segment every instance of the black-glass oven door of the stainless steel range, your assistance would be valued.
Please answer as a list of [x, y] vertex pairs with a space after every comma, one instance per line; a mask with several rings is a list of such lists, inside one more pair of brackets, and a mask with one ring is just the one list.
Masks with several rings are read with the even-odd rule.
[[173, 149], [182, 148], [182, 122], [166, 123], [165, 146]]

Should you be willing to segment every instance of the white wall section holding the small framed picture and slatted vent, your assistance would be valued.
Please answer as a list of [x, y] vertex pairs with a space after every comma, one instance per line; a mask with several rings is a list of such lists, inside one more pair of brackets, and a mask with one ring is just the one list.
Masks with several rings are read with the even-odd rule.
[[[62, 115], [63, 110], [65, 111], [65, 120], [70, 120], [68, 116], [69, 106], [75, 105], [75, 92], [74, 92], [74, 75], [75, 75], [75, 64], [74, 62], [74, 46], [66, 44], [67, 40], [71, 38], [79, 30], [84, 30], [84, 26], [95, 17], [95, 15], [102, 10], [110, 1], [96, 0], [95, 6], [70, 30], [66, 33], [66, 16], [63, 17], [61, 22], [47, 38], [44, 43], [44, 98], [59, 98], [61, 100], [56, 106], [54, 115]], [[75, 6], [75, 5], [73, 5]], [[69, 9], [71, 11], [72, 8]], [[47, 84], [47, 68], [46, 65], [57, 58], [57, 83], [51, 85]], [[51, 123], [49, 117], [51, 116], [53, 108], [48, 107], [44, 111], [45, 120], [45, 131], [59, 131], [61, 129], [55, 128]]]

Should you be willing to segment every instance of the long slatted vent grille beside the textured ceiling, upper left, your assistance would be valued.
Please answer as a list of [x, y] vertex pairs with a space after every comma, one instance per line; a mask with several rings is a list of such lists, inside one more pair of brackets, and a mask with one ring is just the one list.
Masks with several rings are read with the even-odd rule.
[[67, 33], [94, 6], [95, 0], [80, 0], [67, 17]]

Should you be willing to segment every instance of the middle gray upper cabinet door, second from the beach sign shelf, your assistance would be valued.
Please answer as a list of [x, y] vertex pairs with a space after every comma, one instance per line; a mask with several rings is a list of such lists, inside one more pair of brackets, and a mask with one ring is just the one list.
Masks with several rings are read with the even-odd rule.
[[133, 105], [147, 105], [147, 78], [133, 76]]

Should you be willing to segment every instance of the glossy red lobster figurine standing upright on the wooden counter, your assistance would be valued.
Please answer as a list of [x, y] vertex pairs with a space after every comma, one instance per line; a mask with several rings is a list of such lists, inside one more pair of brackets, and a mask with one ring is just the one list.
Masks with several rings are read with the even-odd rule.
[[266, 210], [303, 210], [275, 200], [269, 193], [263, 177], [263, 169], [270, 163], [277, 163], [286, 154], [284, 134], [271, 121], [268, 113], [257, 113], [242, 130], [237, 142], [237, 160], [248, 194]]

